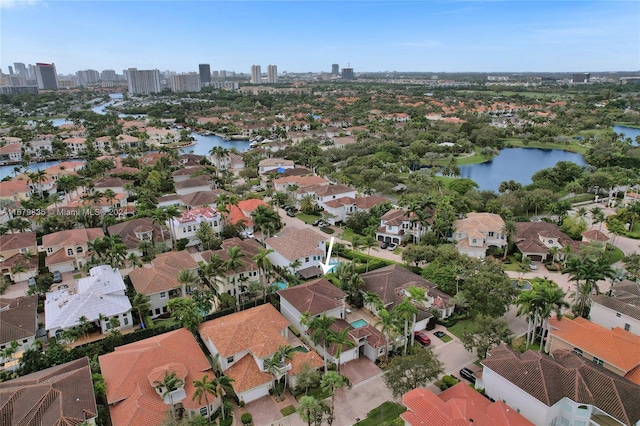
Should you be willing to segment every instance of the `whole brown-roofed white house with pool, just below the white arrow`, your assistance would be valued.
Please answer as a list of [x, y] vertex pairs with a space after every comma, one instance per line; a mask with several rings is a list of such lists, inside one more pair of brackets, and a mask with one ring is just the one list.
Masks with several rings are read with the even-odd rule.
[[357, 324], [358, 326], [354, 326], [345, 321], [347, 317], [346, 294], [326, 279], [321, 278], [286, 288], [278, 291], [278, 294], [280, 295], [280, 312], [297, 330], [305, 333], [310, 342], [310, 331], [300, 323], [300, 318], [305, 312], [308, 312], [311, 317], [324, 314], [327, 317], [335, 318], [331, 328], [336, 332], [340, 332], [345, 328], [349, 330], [347, 336], [353, 343], [353, 347], [342, 348], [340, 359], [337, 358], [337, 346], [330, 344], [325, 352], [324, 345], [310, 343], [328, 361], [344, 364], [358, 359], [360, 354], [364, 354], [370, 360], [375, 361], [385, 354], [385, 337], [372, 324]]

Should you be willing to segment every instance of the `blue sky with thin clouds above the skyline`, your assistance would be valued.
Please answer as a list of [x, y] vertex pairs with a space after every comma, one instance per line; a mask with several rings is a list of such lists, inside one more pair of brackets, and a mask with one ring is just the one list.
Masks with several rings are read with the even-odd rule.
[[0, 0], [0, 67], [640, 70], [640, 1]]

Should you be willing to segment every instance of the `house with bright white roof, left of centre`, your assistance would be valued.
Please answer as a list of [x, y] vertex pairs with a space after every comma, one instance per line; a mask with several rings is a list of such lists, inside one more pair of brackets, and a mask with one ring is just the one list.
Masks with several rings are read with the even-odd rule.
[[75, 288], [65, 286], [47, 293], [45, 327], [50, 334], [55, 334], [78, 326], [80, 317], [84, 316], [89, 322], [99, 324], [102, 332], [111, 329], [109, 319], [112, 317], [119, 319], [119, 329], [131, 328], [131, 302], [125, 290], [119, 270], [109, 265], [95, 266], [88, 277], [78, 280]]

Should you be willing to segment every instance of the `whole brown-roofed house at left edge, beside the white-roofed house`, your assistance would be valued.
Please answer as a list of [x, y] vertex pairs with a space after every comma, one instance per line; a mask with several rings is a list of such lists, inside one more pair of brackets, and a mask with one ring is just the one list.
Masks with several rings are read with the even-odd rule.
[[[18, 368], [22, 354], [30, 349], [38, 331], [38, 296], [0, 299], [0, 370]], [[16, 351], [4, 358], [2, 351], [16, 342]]]

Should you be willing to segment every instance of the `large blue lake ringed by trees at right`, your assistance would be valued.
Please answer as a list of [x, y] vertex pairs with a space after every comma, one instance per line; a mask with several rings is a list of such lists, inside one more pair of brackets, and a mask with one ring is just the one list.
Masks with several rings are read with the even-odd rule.
[[473, 179], [480, 190], [498, 191], [500, 183], [513, 179], [522, 185], [532, 183], [531, 176], [541, 169], [571, 161], [580, 166], [587, 163], [581, 154], [559, 149], [504, 148], [491, 161], [460, 166], [460, 176]]

